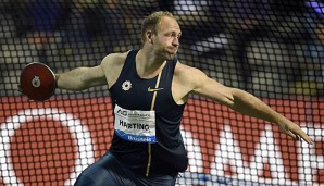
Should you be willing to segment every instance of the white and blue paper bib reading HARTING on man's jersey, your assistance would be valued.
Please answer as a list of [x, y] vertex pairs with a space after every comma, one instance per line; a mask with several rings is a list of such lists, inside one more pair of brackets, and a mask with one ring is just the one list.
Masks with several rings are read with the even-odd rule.
[[117, 136], [133, 142], [157, 142], [155, 111], [127, 110], [115, 104], [114, 114]]

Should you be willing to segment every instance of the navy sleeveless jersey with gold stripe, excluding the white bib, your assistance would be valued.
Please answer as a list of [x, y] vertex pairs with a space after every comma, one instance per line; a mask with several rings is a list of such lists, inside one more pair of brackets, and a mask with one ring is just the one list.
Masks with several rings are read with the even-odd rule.
[[[113, 109], [119, 107], [128, 111], [153, 110], [155, 142], [128, 141], [115, 131], [110, 152], [140, 175], [177, 174], [185, 171], [188, 165], [179, 128], [185, 104], [177, 104], [171, 91], [177, 59], [166, 62], [160, 78], [157, 76], [145, 79], [140, 78], [136, 71], [137, 52], [138, 50], [132, 50], [128, 53], [116, 83], [110, 88], [112, 104]], [[159, 87], [155, 87], [157, 80]], [[154, 101], [153, 108], [151, 108], [152, 101]], [[115, 122], [116, 124], [119, 123]]]

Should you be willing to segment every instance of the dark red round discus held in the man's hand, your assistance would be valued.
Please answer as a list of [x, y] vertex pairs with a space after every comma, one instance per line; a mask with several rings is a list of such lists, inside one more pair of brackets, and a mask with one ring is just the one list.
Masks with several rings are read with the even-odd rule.
[[57, 83], [52, 70], [40, 62], [27, 64], [20, 77], [20, 89], [23, 95], [35, 101], [45, 101], [53, 96]]

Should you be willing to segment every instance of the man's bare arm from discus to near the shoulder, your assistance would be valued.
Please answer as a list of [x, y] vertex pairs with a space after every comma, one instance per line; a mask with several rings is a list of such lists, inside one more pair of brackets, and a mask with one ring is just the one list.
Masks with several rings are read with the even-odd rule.
[[77, 67], [62, 74], [55, 74], [55, 79], [58, 88], [73, 91], [107, 85], [104, 71], [101, 65]]

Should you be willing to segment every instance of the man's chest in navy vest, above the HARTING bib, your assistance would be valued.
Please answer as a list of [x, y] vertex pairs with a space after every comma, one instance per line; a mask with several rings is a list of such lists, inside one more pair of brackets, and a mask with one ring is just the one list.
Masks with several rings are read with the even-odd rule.
[[114, 103], [129, 110], [165, 110], [173, 103], [171, 94], [174, 66], [165, 63], [158, 75], [151, 78], [141, 78], [137, 74], [135, 55], [130, 53], [123, 70], [110, 89]]

